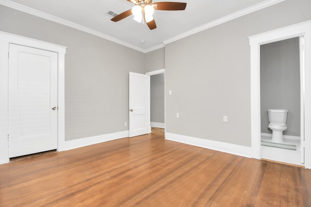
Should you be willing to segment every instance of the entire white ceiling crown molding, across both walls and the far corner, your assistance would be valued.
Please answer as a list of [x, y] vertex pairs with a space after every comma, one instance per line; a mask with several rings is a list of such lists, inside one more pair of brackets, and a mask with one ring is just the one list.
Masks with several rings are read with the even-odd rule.
[[28, 13], [28, 14], [31, 14], [31, 15], [34, 15], [34, 16], [38, 16], [38, 17], [41, 17], [41, 18], [44, 18], [44, 19], [47, 19], [47, 20], [50, 20], [50, 21], [53, 21], [53, 22], [56, 22], [56, 23], [59, 23], [59, 24], [71, 27], [71, 28], [74, 28], [74, 29], [77, 29], [77, 30], [80, 30], [80, 31], [83, 31], [83, 32], [87, 32], [87, 33], [96, 35], [96, 36], [101, 37], [103, 39], [115, 42], [117, 44], [120, 44], [120, 45], [128, 47], [128, 48], [132, 48], [132, 49], [138, 50], [138, 51], [143, 52], [143, 53], [148, 53], [148, 52], [154, 51], [154, 50], [159, 49], [159, 48], [164, 48], [165, 45], [167, 45], [169, 43], [172, 43], [174, 41], [180, 40], [182, 38], [185, 38], [187, 36], [190, 36], [192, 34], [195, 34], [195, 33], [198, 33], [198, 32], [202, 32], [202, 31], [207, 30], [207, 29], [209, 29], [211, 27], [215, 27], [215, 26], [220, 25], [222, 23], [225, 23], [227, 21], [230, 21], [230, 20], [236, 19], [238, 17], [250, 14], [252, 12], [256, 12], [256, 11], [258, 11], [260, 9], [272, 6], [272, 5], [280, 3], [282, 1], [284, 1], [284, 0], [266, 0], [266, 1], [262, 2], [262, 3], [256, 4], [254, 6], [250, 6], [250, 7], [246, 8], [246, 9], [243, 9], [243, 10], [240, 10], [238, 12], [232, 13], [230, 15], [224, 16], [222, 18], [216, 19], [216, 20], [211, 21], [211, 22], [209, 22], [209, 23], [207, 23], [205, 25], [202, 25], [200, 27], [194, 28], [194, 29], [192, 29], [190, 31], [187, 31], [187, 32], [181, 33], [179, 35], [176, 35], [176, 36], [174, 36], [172, 38], [164, 40], [163, 44], [159, 44], [159, 45], [156, 45], [154, 47], [147, 48], [147, 49], [137, 47], [135, 45], [129, 44], [129, 43], [124, 42], [122, 40], [119, 40], [117, 38], [114, 38], [114, 37], [111, 37], [109, 35], [106, 35], [104, 33], [97, 32], [95, 30], [89, 29], [89, 28], [84, 27], [82, 25], [70, 22], [68, 20], [65, 20], [65, 19], [62, 19], [62, 18], [59, 18], [59, 17], [56, 17], [56, 16], [52, 16], [52, 15], [46, 14], [44, 12], [40, 12], [38, 10], [32, 9], [30, 7], [27, 7], [27, 6], [24, 6], [24, 5], [21, 5], [21, 4], [18, 4], [16, 2], [13, 2], [13, 1], [10, 1], [10, 0], [0, 0], [0, 4], [2, 4], [4, 6], [7, 6], [7, 7], [10, 7], [10, 8], [13, 8], [13, 9], [16, 9], [16, 10], [19, 10], [21, 12], [25, 12], [25, 13]]

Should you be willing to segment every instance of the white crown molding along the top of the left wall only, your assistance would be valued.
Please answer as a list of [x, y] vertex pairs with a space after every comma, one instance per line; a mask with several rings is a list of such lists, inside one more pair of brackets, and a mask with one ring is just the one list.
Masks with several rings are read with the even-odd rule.
[[70, 22], [70, 21], [62, 19], [62, 18], [59, 18], [57, 16], [52, 16], [52, 15], [46, 14], [44, 12], [40, 12], [38, 10], [32, 9], [30, 7], [27, 7], [27, 6], [24, 6], [24, 5], [21, 5], [21, 4], [18, 4], [16, 2], [13, 2], [13, 1], [10, 1], [10, 0], [0, 0], [0, 4], [2, 4], [3, 6], [7, 6], [7, 7], [10, 7], [10, 8], [16, 9], [16, 10], [21, 11], [21, 12], [25, 12], [25, 13], [28, 13], [28, 14], [31, 14], [31, 15], [34, 15], [34, 16], [38, 16], [38, 17], [41, 17], [41, 18], [44, 18], [44, 19], [47, 19], [47, 20], [50, 20], [50, 21], [53, 21], [53, 22], [56, 22], [56, 23], [59, 23], [59, 24], [71, 27], [71, 28], [74, 28], [74, 29], [77, 29], [77, 30], [80, 30], [80, 31], [83, 31], [83, 32], [87, 32], [87, 33], [99, 36], [99, 37], [104, 38], [106, 40], [118, 43], [118, 44], [120, 44], [122, 46], [125, 46], [125, 47], [128, 47], [128, 48], [132, 48], [132, 49], [138, 50], [140, 52], [146, 53], [145, 49], [143, 49], [143, 48], [139, 48], [137, 46], [134, 46], [134, 45], [129, 44], [127, 42], [121, 41], [121, 40], [119, 40], [117, 38], [111, 37], [111, 36], [106, 35], [104, 33], [97, 32], [95, 30], [89, 29], [87, 27], [84, 27], [82, 25]]

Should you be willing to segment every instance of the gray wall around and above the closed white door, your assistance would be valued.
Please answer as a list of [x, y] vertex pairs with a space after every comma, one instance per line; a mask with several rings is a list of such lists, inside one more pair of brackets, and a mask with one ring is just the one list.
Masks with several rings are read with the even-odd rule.
[[66, 140], [128, 130], [128, 73], [145, 73], [145, 54], [0, 5], [0, 31], [67, 46]]

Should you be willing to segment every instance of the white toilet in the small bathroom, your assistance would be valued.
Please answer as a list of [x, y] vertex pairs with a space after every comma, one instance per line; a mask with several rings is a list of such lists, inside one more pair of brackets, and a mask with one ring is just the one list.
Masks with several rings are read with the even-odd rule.
[[283, 142], [283, 131], [286, 126], [287, 110], [286, 109], [268, 109], [269, 128], [272, 130], [272, 142]]

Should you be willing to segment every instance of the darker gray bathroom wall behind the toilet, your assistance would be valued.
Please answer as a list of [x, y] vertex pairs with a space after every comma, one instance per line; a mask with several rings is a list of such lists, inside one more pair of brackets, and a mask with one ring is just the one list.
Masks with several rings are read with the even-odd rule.
[[268, 109], [287, 109], [284, 135], [300, 136], [299, 38], [260, 46], [261, 132], [267, 128]]

